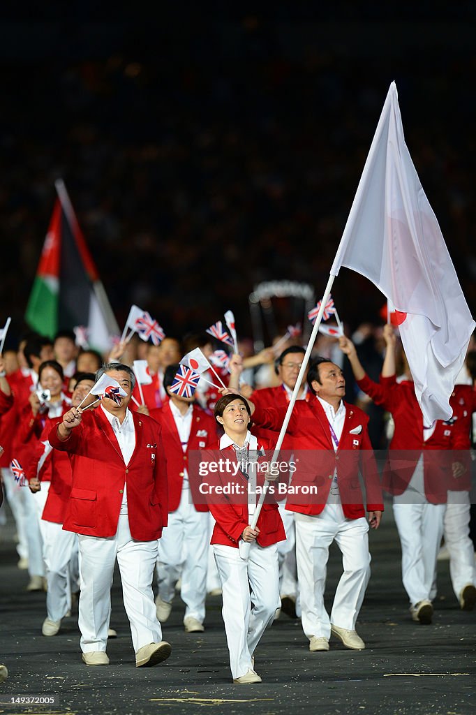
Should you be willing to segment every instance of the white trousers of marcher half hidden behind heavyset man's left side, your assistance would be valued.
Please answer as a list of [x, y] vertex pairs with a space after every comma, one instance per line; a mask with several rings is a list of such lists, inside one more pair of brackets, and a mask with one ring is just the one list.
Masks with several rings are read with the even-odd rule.
[[71, 583], [69, 564], [74, 559], [78, 535], [44, 519], [40, 527], [48, 582], [46, 613], [51, 621], [61, 621], [71, 610], [71, 588], [76, 591], [76, 584]]

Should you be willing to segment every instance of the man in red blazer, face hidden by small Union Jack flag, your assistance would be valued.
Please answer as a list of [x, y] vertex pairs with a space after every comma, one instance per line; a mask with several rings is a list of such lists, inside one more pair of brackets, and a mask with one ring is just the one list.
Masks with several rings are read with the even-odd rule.
[[204, 631], [209, 550], [209, 513], [206, 505], [194, 503], [189, 485], [189, 458], [217, 441], [214, 418], [195, 404], [195, 394], [181, 397], [172, 393], [179, 365], [169, 365], [164, 373], [164, 390], [169, 400], [150, 416], [162, 427], [169, 484], [169, 523], [159, 543], [157, 560], [157, 617], [164, 623], [172, 611], [175, 584], [182, 578], [180, 595], [185, 603], [186, 633]]

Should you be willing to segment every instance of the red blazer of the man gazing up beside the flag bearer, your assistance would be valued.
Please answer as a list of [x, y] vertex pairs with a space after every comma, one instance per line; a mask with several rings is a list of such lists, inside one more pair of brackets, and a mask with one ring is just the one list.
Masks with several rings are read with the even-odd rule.
[[[377, 463], [367, 431], [369, 418], [355, 407], [346, 408], [344, 427], [337, 452], [334, 452], [329, 421], [317, 398], [298, 400], [289, 419], [287, 432], [294, 441], [296, 471], [287, 495], [288, 511], [317, 515], [327, 503], [337, 469], [342, 510], [349, 519], [365, 516], [359, 470], [365, 482], [367, 511], [383, 511], [382, 489]], [[253, 420], [263, 427], [279, 430], [287, 408], [257, 408]], [[354, 430], [354, 433], [351, 433]], [[304, 488], [317, 487], [317, 494], [306, 495]], [[292, 489], [295, 489], [295, 495]]]

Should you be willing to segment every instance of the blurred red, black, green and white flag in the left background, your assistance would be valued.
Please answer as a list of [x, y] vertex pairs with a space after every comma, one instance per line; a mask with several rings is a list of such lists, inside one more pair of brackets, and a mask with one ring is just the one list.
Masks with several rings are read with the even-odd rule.
[[114, 313], [62, 181], [44, 241], [25, 320], [53, 338], [58, 330], [88, 329], [89, 345], [100, 352], [119, 335]]

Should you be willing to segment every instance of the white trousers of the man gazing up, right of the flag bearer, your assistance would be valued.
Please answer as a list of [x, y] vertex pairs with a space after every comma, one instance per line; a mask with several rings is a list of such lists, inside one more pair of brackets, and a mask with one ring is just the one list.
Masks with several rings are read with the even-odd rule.
[[[364, 517], [347, 519], [340, 504], [327, 504], [318, 516], [295, 514], [297, 578], [302, 629], [307, 638], [329, 638], [331, 623], [354, 631], [370, 578], [369, 525]], [[337, 543], [344, 573], [332, 611], [324, 608], [329, 546]]]

